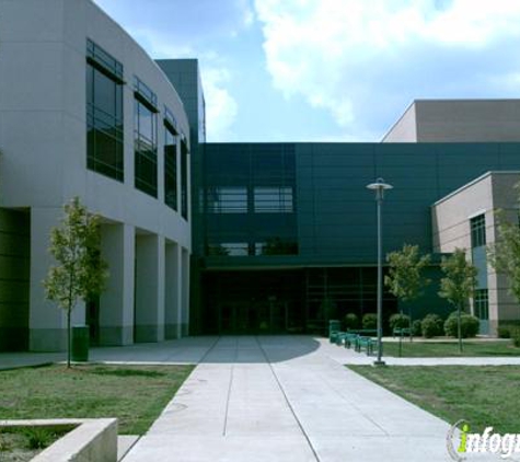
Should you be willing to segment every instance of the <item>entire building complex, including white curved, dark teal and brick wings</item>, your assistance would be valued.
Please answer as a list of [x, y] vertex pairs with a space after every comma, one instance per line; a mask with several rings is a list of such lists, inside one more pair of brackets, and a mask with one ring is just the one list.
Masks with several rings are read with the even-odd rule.
[[394, 186], [384, 252], [435, 256], [424, 297], [384, 293], [384, 316], [448, 313], [439, 261], [457, 245], [482, 269], [483, 332], [516, 316], [469, 236], [484, 227], [490, 242], [493, 208], [512, 204], [515, 174], [499, 172], [520, 171], [518, 101], [418, 101], [379, 143], [208, 143], [196, 59], [153, 61], [91, 0], [0, 0], [0, 349], [65, 348], [42, 280], [74, 196], [103, 219], [108, 287], [74, 310], [100, 345], [315, 333], [374, 312], [366, 186], [380, 176]]

